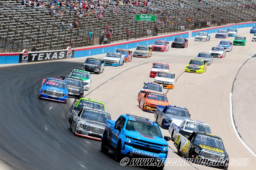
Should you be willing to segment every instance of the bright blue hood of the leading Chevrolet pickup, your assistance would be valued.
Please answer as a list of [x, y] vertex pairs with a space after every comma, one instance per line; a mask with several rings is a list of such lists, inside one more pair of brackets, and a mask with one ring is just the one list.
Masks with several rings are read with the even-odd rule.
[[140, 139], [140, 140], [144, 140], [144, 141], [151, 142], [151, 143], [156, 143], [156, 144], [160, 144], [160, 145], [168, 145], [167, 141], [164, 138], [146, 134], [146, 133], [126, 130], [126, 135], [129, 137], [133, 137], [135, 139]]

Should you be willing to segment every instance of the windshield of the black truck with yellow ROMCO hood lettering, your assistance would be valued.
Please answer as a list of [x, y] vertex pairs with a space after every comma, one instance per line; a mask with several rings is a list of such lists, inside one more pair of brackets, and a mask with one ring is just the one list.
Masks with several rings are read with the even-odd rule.
[[197, 143], [199, 145], [206, 145], [219, 149], [224, 149], [222, 140], [219, 137], [209, 136], [205, 134], [197, 134], [194, 138], [194, 143]]

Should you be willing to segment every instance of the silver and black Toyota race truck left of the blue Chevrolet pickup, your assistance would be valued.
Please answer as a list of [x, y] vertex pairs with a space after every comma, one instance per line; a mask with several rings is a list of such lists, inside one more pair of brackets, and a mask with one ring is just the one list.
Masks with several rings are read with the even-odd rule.
[[74, 108], [69, 116], [70, 131], [78, 136], [101, 140], [110, 113], [101, 109]]

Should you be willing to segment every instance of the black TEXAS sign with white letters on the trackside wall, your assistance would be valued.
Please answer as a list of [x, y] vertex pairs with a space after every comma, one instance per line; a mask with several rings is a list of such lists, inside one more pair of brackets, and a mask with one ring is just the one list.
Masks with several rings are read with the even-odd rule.
[[68, 47], [66, 50], [28, 52], [23, 50], [19, 56], [19, 63], [50, 61], [74, 58], [74, 50]]

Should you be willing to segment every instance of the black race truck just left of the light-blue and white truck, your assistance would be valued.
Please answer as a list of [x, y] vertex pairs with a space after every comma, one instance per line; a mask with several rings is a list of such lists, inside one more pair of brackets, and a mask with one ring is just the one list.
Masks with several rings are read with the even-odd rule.
[[97, 58], [87, 58], [80, 70], [100, 74], [104, 71], [104, 61]]

